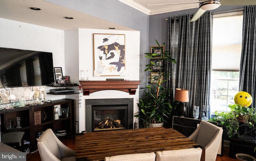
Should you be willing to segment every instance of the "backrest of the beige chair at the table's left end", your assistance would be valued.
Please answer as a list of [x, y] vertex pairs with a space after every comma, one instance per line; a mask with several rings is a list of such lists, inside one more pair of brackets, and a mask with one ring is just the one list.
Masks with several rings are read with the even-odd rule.
[[48, 155], [54, 155], [59, 160], [62, 159], [55, 137], [52, 129], [47, 129], [37, 141], [38, 151], [42, 161], [47, 161], [49, 159]]

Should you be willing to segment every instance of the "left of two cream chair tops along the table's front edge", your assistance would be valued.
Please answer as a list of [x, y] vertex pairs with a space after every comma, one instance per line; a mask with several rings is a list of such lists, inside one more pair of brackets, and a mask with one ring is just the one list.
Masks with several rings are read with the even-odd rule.
[[112, 157], [105, 157], [105, 161], [155, 161], [155, 159], [156, 159], [156, 154], [154, 152], [115, 155]]

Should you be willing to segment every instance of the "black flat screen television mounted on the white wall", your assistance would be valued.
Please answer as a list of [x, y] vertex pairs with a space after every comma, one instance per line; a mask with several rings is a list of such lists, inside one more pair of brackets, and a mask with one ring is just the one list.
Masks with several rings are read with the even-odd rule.
[[52, 53], [0, 48], [0, 87], [49, 85], [54, 82]]

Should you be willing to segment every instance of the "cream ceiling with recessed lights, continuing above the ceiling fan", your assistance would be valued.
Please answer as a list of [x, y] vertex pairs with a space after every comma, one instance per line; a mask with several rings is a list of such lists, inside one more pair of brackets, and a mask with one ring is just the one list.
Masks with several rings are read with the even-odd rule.
[[[54, 2], [54, 0], [52, 0]], [[174, 5], [156, 5], [178, 2], [198, 2], [198, 0], [118, 0], [128, 6], [135, 8], [145, 14], [154, 15], [178, 10], [198, 8], [198, 3], [192, 4], [174, 4]], [[222, 0], [222, 4], [239, 3], [255, 4], [255, 0]], [[86, 3], [86, 2], [85, 2]], [[241, 4], [242, 5], [242, 4]], [[42, 10], [31, 10], [30, 7], [38, 7]], [[69, 20], [64, 17], [74, 17]], [[56, 28], [60, 30], [69, 30], [74, 28], [94, 28], [116, 30], [132, 30], [125, 26], [120, 26], [106, 20], [102, 20], [84, 13], [71, 10], [45, 0], [0, 0], [0, 18]], [[85, 21], [86, 20], [86, 21]]]

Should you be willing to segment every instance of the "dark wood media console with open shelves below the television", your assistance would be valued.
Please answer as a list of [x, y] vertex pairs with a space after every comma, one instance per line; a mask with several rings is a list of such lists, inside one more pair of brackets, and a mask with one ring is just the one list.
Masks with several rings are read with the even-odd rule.
[[[54, 119], [54, 105], [60, 105], [62, 108], [69, 108], [68, 115], [60, 116], [59, 119]], [[35, 123], [35, 111], [40, 111], [40, 123]], [[1, 117], [1, 133], [9, 133], [13, 131], [24, 131], [24, 139], [30, 144], [25, 144], [25, 149], [30, 148], [30, 152], [37, 149], [36, 135], [40, 131], [45, 131], [50, 128], [54, 132], [57, 129], [66, 130], [66, 135], [75, 134], [75, 100], [60, 99], [45, 103], [43, 105], [21, 107], [17, 109], [9, 109], [0, 111]], [[68, 117], [67, 117], [68, 116]], [[20, 117], [20, 126], [17, 128], [17, 117]], [[13, 122], [13, 127], [10, 127], [10, 120]], [[36, 124], [36, 125], [35, 125]], [[7, 128], [8, 127], [8, 128]]]

